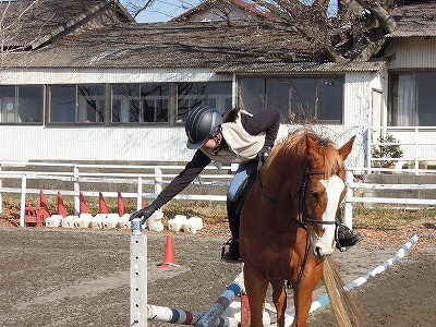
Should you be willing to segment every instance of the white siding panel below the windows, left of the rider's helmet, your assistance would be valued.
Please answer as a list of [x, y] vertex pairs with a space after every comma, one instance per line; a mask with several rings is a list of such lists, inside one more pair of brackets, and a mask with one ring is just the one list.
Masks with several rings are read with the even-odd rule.
[[0, 129], [0, 160], [165, 160], [184, 161], [184, 128], [43, 128]]

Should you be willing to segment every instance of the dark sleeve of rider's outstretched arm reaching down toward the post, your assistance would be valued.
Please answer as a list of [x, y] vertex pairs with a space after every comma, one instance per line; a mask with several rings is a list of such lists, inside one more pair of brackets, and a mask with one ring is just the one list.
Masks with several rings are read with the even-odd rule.
[[186, 164], [185, 168], [164, 189], [162, 192], [153, 202], [155, 208], [160, 208], [175, 195], [182, 192], [202, 171], [210, 164], [201, 149], [197, 149], [194, 157]]

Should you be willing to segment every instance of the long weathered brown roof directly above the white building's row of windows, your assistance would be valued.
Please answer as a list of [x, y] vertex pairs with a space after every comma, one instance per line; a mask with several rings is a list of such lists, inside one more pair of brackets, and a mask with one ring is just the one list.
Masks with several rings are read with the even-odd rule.
[[217, 68], [322, 59], [293, 28], [247, 22], [111, 25], [15, 56], [21, 58], [11, 60], [15, 65], [71, 68]]

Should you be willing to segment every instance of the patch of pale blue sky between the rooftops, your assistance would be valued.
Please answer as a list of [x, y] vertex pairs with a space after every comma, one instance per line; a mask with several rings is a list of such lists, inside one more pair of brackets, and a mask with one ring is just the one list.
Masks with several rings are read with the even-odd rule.
[[[132, 2], [132, 0], [130, 0]], [[128, 0], [121, 0], [125, 4]], [[182, 3], [185, 4], [182, 4]], [[152, 7], [136, 16], [138, 23], [167, 22], [189, 9], [197, 5], [201, 0], [156, 0]]]

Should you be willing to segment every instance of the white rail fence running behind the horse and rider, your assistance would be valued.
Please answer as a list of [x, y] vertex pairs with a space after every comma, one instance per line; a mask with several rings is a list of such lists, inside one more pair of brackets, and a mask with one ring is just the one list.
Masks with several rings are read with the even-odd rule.
[[[70, 169], [71, 171], [56, 172], [56, 171], [32, 171], [29, 168], [55, 168]], [[12, 170], [13, 168], [14, 170]], [[86, 169], [119, 169], [120, 171], [138, 170], [138, 172], [84, 172]], [[107, 183], [107, 184], [132, 184], [135, 185], [135, 192], [123, 192], [122, 196], [125, 198], [136, 198], [137, 208], [142, 205], [143, 197], [155, 198], [162, 190], [162, 185], [171, 181], [184, 167], [183, 166], [98, 166], [98, 165], [73, 165], [73, 164], [29, 164], [29, 162], [0, 162], [0, 213], [2, 213], [2, 194], [16, 193], [21, 194], [21, 222], [24, 221], [24, 207], [26, 194], [38, 194], [40, 190], [27, 187], [29, 180], [57, 180], [73, 183], [73, 190], [44, 190], [45, 194], [55, 195], [60, 191], [63, 195], [74, 196], [74, 208], [76, 214], [80, 211], [80, 192], [84, 196], [98, 197], [99, 192], [81, 190], [81, 183]], [[229, 172], [234, 171], [235, 167], [223, 167], [223, 170]], [[148, 170], [148, 173], [140, 171]], [[173, 171], [173, 173], [164, 173], [162, 171]], [[175, 173], [174, 173], [175, 171]], [[206, 167], [206, 173], [201, 174], [195, 182], [199, 185], [222, 186], [230, 183], [233, 173], [217, 173], [218, 169], [214, 166]], [[395, 198], [395, 197], [379, 197], [379, 196], [355, 196], [356, 190], [436, 190], [436, 183], [415, 183], [415, 184], [380, 184], [380, 183], [364, 183], [355, 182], [353, 172], [359, 174], [367, 171], [386, 172], [389, 169], [376, 168], [350, 168], [347, 172], [348, 192], [344, 198], [344, 222], [352, 228], [353, 204], [354, 203], [371, 203], [371, 204], [389, 204], [389, 205], [405, 205], [405, 206], [436, 206], [435, 198]], [[404, 172], [407, 170], [397, 171]], [[411, 172], [412, 170], [409, 170]], [[415, 173], [426, 172], [435, 174], [436, 170], [413, 170]], [[211, 173], [207, 173], [211, 172]], [[215, 173], [214, 173], [215, 172]], [[3, 187], [2, 181], [12, 179], [20, 181], [20, 187]], [[144, 193], [143, 185], [153, 185], [154, 192]], [[118, 192], [101, 192], [106, 197], [117, 197]], [[225, 202], [225, 195], [211, 194], [179, 194], [175, 199], [190, 199], [190, 201], [206, 201], [206, 202]], [[23, 225], [24, 226], [24, 222]]]

